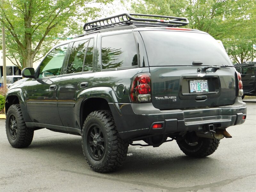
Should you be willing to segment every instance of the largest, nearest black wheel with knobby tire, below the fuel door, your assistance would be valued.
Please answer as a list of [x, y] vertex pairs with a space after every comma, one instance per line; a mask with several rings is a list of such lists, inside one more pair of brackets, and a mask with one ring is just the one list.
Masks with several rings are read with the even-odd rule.
[[90, 167], [97, 172], [111, 172], [126, 158], [129, 144], [119, 137], [110, 111], [93, 111], [84, 121], [82, 147]]

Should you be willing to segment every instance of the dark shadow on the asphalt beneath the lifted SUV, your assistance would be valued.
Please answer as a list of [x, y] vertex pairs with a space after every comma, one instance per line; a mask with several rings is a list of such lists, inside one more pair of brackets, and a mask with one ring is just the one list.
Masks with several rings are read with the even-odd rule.
[[[147, 150], [137, 150], [136, 147], [130, 146], [123, 166], [116, 172], [107, 173], [107, 175], [114, 177], [122, 175], [123, 177], [127, 173], [134, 173], [138, 176], [140, 174], [147, 174], [148, 176], [154, 177], [154, 174], [161, 173], [160, 177], [169, 174], [180, 177], [180, 175], [186, 175], [188, 173], [204, 174], [206, 172], [216, 171], [216, 167], [220, 164], [219, 160], [212, 156], [191, 158], [185, 156], [182, 152], [172, 151], [172, 148], [168, 148], [168, 151], [166, 151], [165, 147], [159, 152], [155, 151], [152, 147], [147, 147]], [[41, 157], [47, 154], [47, 156], [52, 157], [49, 161], [53, 161], [53, 164], [63, 163], [63, 169], [65, 169], [65, 162], [72, 160], [74, 170], [81, 170], [81, 173], [95, 173], [88, 169], [89, 165], [85, 161], [81, 146], [81, 137], [79, 136], [39, 138], [33, 140], [31, 145], [23, 150], [26, 150], [26, 152], [29, 151], [30, 155], [36, 153], [38, 156], [40, 154], [39, 156]], [[83, 164], [84, 166], [81, 167]]]

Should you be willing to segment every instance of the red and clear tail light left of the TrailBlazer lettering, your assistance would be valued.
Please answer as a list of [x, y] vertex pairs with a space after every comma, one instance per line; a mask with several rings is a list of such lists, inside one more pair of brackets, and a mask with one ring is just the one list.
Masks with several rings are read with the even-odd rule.
[[132, 102], [151, 101], [150, 73], [143, 73], [134, 77], [130, 97]]

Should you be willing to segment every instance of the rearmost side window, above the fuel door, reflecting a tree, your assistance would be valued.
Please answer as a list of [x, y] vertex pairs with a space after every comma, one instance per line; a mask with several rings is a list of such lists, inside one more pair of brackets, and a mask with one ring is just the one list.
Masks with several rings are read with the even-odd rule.
[[101, 60], [102, 69], [137, 66], [137, 48], [133, 34], [102, 37]]

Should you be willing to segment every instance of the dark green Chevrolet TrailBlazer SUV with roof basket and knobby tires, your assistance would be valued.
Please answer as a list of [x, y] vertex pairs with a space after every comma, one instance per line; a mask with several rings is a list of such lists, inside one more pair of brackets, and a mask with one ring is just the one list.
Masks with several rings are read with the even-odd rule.
[[97, 172], [119, 167], [129, 144], [176, 140], [188, 156], [211, 155], [231, 137], [226, 128], [245, 121], [241, 75], [212, 36], [177, 28], [186, 24], [127, 13], [86, 23], [10, 87], [10, 144], [28, 147], [42, 128], [81, 135]]

